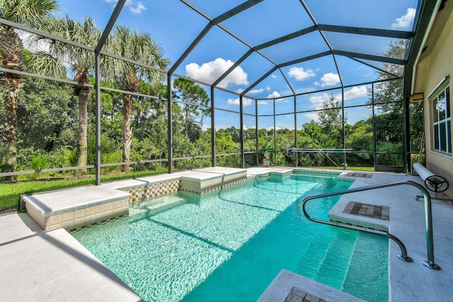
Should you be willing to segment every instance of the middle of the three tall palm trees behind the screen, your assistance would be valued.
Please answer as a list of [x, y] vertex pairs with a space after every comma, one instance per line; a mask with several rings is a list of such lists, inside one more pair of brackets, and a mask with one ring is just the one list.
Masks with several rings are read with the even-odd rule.
[[[96, 47], [101, 30], [93, 19], [86, 17], [82, 23], [65, 18], [55, 18], [43, 27], [46, 32], [78, 42], [81, 45]], [[73, 81], [88, 84], [94, 71], [94, 53], [65, 42], [51, 40], [47, 37], [35, 37], [34, 42], [45, 42], [48, 51], [36, 52], [30, 59], [30, 69], [47, 76], [62, 76], [69, 70]], [[79, 139], [77, 143], [77, 165], [87, 165], [88, 150], [88, 100], [91, 88], [74, 86], [74, 94], [79, 98]], [[86, 169], [82, 169], [86, 173]]]

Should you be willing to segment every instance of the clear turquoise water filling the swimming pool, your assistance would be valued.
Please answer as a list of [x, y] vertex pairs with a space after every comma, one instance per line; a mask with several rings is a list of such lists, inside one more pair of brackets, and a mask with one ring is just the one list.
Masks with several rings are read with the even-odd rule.
[[[73, 236], [145, 301], [256, 301], [281, 269], [387, 301], [388, 240], [311, 222], [300, 209], [305, 196], [350, 184], [291, 175], [178, 192]], [[338, 198], [313, 200], [307, 211], [327, 219]]]

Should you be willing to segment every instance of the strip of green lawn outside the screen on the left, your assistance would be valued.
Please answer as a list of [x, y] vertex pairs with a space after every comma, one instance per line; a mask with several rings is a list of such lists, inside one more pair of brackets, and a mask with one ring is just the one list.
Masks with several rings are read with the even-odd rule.
[[[143, 176], [167, 173], [168, 170], [141, 171], [132, 173], [118, 173], [115, 175], [102, 175], [101, 182], [139, 178]], [[0, 184], [0, 212], [17, 211], [21, 202], [21, 194], [31, 194], [52, 190], [60, 190], [67, 187], [81, 187], [84, 185], [95, 185], [96, 179], [93, 175], [89, 178], [74, 180], [35, 180], [27, 182], [12, 182]]]

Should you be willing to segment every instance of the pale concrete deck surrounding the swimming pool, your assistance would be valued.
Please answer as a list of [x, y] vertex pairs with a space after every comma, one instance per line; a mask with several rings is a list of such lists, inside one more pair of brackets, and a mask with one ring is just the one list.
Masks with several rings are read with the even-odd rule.
[[[222, 168], [219, 168], [221, 171]], [[250, 168], [247, 177], [287, 173], [288, 168]], [[290, 168], [289, 168], [290, 169]], [[317, 170], [319, 171], [319, 170]], [[332, 171], [329, 171], [332, 172]], [[343, 171], [338, 171], [343, 172]], [[337, 173], [338, 173], [337, 172]], [[351, 171], [347, 171], [350, 173]], [[187, 175], [190, 172], [185, 172]], [[220, 172], [221, 173], [221, 172]], [[358, 174], [362, 172], [357, 172]], [[172, 174], [172, 178], [176, 173]], [[367, 173], [371, 178], [355, 180], [352, 187], [382, 182], [413, 180], [412, 175]], [[168, 175], [162, 175], [168, 178]], [[108, 187], [133, 186], [140, 180], [125, 180], [105, 184]], [[127, 185], [125, 185], [127, 184]], [[389, 242], [390, 301], [451, 301], [453, 288], [453, 205], [452, 202], [432, 201], [435, 263], [440, 271], [422, 265], [427, 260], [425, 214], [423, 199], [415, 200], [420, 191], [408, 185], [344, 195], [336, 207], [350, 201], [390, 207], [389, 232], [406, 245], [412, 263], [398, 260], [398, 245]], [[336, 211], [338, 214], [339, 211]], [[340, 211], [341, 212], [341, 211]], [[348, 214], [344, 214], [347, 219]], [[360, 219], [358, 219], [360, 221]], [[382, 223], [382, 222], [380, 222]], [[0, 216], [0, 292], [5, 301], [141, 301], [119, 278], [91, 255], [67, 231], [58, 228], [43, 231], [28, 214]], [[372, 247], [370, 247], [372, 248]], [[365, 264], [366, 265], [366, 264]], [[300, 284], [297, 275], [284, 274], [287, 288]], [[290, 277], [288, 277], [290, 276]], [[281, 280], [277, 280], [281, 281]], [[269, 287], [263, 301], [285, 301], [289, 291], [282, 286]], [[302, 290], [306, 290], [301, 288]], [[267, 295], [267, 296], [266, 296]], [[269, 296], [270, 295], [270, 296]], [[274, 296], [273, 296], [274, 295]], [[320, 295], [317, 295], [323, 298]], [[338, 300], [342, 301], [340, 296]], [[344, 300], [343, 300], [344, 301]]]

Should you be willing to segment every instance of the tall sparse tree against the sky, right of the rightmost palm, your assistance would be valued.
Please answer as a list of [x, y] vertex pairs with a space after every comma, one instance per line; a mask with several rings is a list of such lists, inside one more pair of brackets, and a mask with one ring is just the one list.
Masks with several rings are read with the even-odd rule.
[[[200, 135], [203, 119], [210, 114], [210, 108], [206, 108], [210, 98], [206, 91], [193, 81], [187, 79], [176, 79], [173, 82], [176, 91], [173, 91], [173, 98], [183, 102], [184, 108], [184, 134], [190, 141], [196, 141]], [[200, 117], [200, 122], [195, 117]]]

